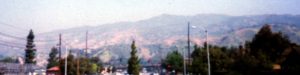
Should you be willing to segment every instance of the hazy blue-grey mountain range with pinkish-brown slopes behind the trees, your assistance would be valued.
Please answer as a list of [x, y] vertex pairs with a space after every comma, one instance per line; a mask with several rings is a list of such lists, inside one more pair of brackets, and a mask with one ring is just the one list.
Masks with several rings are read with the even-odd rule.
[[[227, 47], [238, 46], [246, 40], [251, 40], [257, 30], [265, 24], [270, 24], [272, 30], [281, 31], [292, 42], [300, 44], [300, 15], [163, 14], [136, 22], [85, 26], [37, 34], [37, 39], [49, 40], [37, 43], [37, 50], [40, 53], [38, 56], [48, 57], [50, 48], [58, 43], [59, 33], [63, 35], [63, 49], [67, 46], [82, 50], [85, 48], [86, 31], [88, 31], [90, 56], [100, 57], [103, 62], [127, 59], [133, 40], [136, 41], [140, 58], [159, 61], [167, 52], [176, 50], [176, 46], [180, 49], [185, 48], [188, 22], [193, 26], [191, 27], [192, 44], [202, 45], [205, 41], [204, 30], [207, 29], [209, 43]], [[20, 51], [19, 54], [23, 53]]]

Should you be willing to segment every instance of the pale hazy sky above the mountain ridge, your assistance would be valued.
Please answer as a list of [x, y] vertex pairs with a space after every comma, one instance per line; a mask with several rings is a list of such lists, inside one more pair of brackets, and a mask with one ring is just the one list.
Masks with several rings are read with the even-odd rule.
[[0, 22], [41, 33], [160, 14], [298, 15], [299, 7], [300, 0], [1, 0]]

